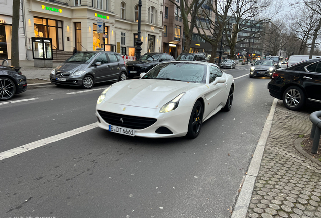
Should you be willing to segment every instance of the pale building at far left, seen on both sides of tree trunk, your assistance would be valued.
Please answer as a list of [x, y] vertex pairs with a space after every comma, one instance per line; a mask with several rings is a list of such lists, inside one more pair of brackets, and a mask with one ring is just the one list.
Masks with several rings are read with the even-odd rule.
[[[23, 1], [23, 0], [22, 0]], [[12, 0], [0, 0], [0, 59], [11, 59]], [[26, 59], [23, 2], [20, 3], [19, 59]]]

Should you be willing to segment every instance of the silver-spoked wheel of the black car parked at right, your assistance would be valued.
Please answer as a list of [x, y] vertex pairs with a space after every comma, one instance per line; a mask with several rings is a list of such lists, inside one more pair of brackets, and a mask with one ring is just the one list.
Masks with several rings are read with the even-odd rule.
[[283, 92], [283, 104], [286, 108], [299, 111], [305, 103], [304, 92], [297, 86], [290, 86]]

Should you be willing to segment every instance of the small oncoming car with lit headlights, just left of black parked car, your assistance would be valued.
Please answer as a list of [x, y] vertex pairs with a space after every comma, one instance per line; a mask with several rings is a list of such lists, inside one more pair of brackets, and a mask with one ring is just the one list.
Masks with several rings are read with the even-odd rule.
[[272, 78], [273, 72], [276, 67], [272, 60], [257, 60], [254, 64], [251, 64], [250, 78], [257, 77], [270, 77]]

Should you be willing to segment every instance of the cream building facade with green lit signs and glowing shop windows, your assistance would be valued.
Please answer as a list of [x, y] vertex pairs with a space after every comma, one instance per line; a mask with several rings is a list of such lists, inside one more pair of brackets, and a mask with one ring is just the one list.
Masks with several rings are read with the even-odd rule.
[[[138, 1], [24, 1], [28, 59], [32, 59], [32, 37], [51, 38], [57, 51], [73, 51], [76, 47], [78, 51], [105, 50], [135, 56]], [[142, 53], [161, 51], [162, 2], [142, 1]], [[98, 19], [102, 25], [97, 26]]]

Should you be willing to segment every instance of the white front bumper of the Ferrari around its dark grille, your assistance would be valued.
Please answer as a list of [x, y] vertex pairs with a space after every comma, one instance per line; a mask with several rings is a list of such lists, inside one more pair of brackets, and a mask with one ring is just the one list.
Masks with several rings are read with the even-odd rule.
[[[108, 111], [116, 114], [129, 116], [155, 118], [157, 121], [145, 129], [135, 129], [135, 136], [146, 138], [172, 138], [181, 137], [187, 134], [188, 122], [191, 115], [191, 107], [178, 106], [175, 110], [167, 113], [159, 113], [160, 108], [144, 108], [121, 104], [102, 102], [96, 106], [96, 116], [100, 120], [97, 124], [100, 128], [109, 130], [107, 123], [98, 113], [97, 110]], [[118, 125], [118, 126], [121, 126]], [[156, 130], [159, 127], [166, 127], [171, 130], [172, 134], [159, 134]]]

